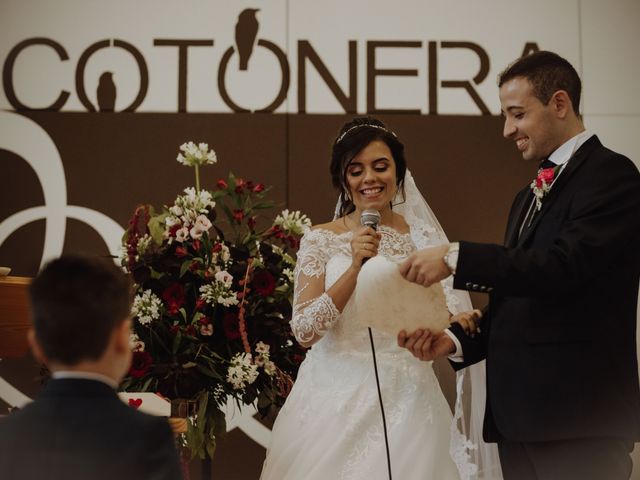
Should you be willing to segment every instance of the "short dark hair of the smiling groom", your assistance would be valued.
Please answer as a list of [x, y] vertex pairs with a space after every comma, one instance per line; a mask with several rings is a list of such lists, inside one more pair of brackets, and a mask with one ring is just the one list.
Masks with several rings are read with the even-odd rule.
[[533, 94], [544, 105], [558, 90], [564, 90], [571, 99], [573, 111], [580, 115], [582, 82], [575, 68], [560, 55], [539, 51], [519, 58], [498, 76], [498, 87], [516, 77], [524, 77], [533, 87]]

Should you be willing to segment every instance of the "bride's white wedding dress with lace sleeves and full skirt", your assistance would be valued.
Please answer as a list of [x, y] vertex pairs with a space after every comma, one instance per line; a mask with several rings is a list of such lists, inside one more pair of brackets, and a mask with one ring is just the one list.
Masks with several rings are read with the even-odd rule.
[[[415, 250], [410, 234], [378, 231], [378, 255], [401, 261]], [[291, 325], [298, 339], [323, 337], [273, 426], [262, 480], [388, 478], [368, 330], [356, 320], [353, 295], [340, 313], [324, 293], [351, 264], [350, 241], [350, 232], [324, 229], [302, 239]], [[393, 335], [374, 331], [373, 338], [393, 478], [459, 479], [449, 453], [452, 415], [431, 362], [398, 347]]]

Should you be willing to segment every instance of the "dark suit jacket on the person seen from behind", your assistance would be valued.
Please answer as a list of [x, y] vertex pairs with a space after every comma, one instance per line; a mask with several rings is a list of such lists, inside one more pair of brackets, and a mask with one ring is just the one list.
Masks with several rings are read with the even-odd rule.
[[0, 478], [176, 480], [165, 418], [125, 405], [94, 380], [50, 380], [23, 410], [0, 419]]

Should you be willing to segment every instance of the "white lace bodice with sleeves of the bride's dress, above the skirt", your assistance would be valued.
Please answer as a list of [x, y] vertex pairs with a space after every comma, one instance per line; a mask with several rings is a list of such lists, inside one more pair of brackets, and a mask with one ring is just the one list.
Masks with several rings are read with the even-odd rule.
[[[378, 255], [400, 262], [415, 250], [409, 233], [385, 226], [380, 226], [378, 232], [381, 234]], [[341, 313], [326, 293], [351, 265], [351, 238], [352, 232], [337, 234], [326, 229], [305, 233], [296, 265], [291, 327], [300, 342], [326, 335], [319, 348], [368, 353], [368, 332], [355, 321], [358, 313], [353, 298]], [[381, 332], [376, 332], [376, 336], [377, 348], [397, 348], [395, 337]]]

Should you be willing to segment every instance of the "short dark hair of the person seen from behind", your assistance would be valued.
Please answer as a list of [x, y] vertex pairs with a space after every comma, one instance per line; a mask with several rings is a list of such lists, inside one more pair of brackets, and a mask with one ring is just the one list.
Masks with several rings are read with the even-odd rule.
[[33, 327], [49, 361], [98, 360], [131, 312], [131, 280], [113, 261], [78, 255], [48, 263], [29, 288]]

